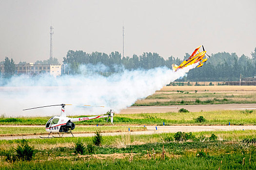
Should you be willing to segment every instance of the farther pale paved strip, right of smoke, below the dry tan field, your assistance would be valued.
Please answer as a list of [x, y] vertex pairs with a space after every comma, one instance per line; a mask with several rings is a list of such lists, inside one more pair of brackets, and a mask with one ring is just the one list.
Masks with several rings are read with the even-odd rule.
[[198, 104], [198, 105], [168, 105], [168, 106], [131, 106], [122, 109], [120, 114], [136, 114], [136, 113], [166, 113], [178, 112], [184, 108], [190, 112], [210, 111], [210, 110], [255, 110], [256, 103], [249, 104]]

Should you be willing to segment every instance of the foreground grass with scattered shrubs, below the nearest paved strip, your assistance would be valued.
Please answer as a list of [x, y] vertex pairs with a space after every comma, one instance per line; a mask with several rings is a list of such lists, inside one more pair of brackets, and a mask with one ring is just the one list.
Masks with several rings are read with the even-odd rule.
[[[217, 136], [216, 141], [166, 141], [175, 134], [103, 136], [102, 145], [88, 150], [92, 137], [29, 139], [35, 149], [31, 161], [6, 161], [6, 154], [21, 140], [0, 141], [0, 169], [255, 169], [256, 147], [242, 139], [256, 131], [200, 132], [196, 137]], [[75, 153], [82, 141], [85, 153]]]

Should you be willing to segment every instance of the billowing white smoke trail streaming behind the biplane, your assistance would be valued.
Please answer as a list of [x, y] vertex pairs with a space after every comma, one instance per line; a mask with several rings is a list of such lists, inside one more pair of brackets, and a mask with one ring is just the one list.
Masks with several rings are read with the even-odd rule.
[[[0, 87], [0, 114], [10, 116], [53, 116], [60, 114], [60, 106], [28, 111], [22, 109], [53, 104], [88, 104], [102, 107], [66, 106], [67, 115], [95, 115], [109, 109], [119, 112], [138, 99], [152, 95], [164, 85], [183, 77], [197, 65], [173, 72], [166, 67], [149, 70], [123, 70], [109, 77], [98, 74], [41, 77], [37, 80], [13, 77]], [[101, 66], [102, 67], [102, 66]], [[98, 66], [82, 66], [81, 71], [98, 70]], [[107, 69], [104, 68], [104, 71]], [[31, 86], [33, 84], [33, 86]]]

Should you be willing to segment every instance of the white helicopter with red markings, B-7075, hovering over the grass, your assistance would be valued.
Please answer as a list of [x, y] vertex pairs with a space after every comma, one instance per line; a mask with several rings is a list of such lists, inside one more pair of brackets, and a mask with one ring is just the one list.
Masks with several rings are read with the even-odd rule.
[[[30, 110], [30, 109], [37, 109], [37, 108], [42, 108], [42, 107], [51, 107], [51, 106], [61, 106], [61, 112], [60, 112], [60, 116], [54, 116], [51, 119], [49, 119], [45, 125], [45, 130], [47, 132], [50, 132], [50, 134], [48, 135], [48, 137], [42, 137], [41, 138], [51, 138], [49, 137], [51, 135], [51, 133], [58, 133], [59, 132], [63, 133], [62, 136], [64, 135], [64, 133], [71, 133], [72, 134], [72, 130], [75, 129], [76, 125], [75, 121], [83, 121], [83, 120], [91, 120], [91, 119], [99, 119], [99, 118], [107, 118], [106, 122], [108, 122], [108, 119], [110, 117], [111, 123], [113, 124], [113, 116], [114, 113], [112, 110], [110, 110], [108, 113], [108, 115], [103, 115], [103, 116], [92, 116], [92, 117], [83, 117], [83, 118], [69, 118], [66, 116], [65, 113], [65, 105], [78, 105], [78, 106], [91, 106], [91, 105], [80, 105], [80, 104], [56, 104], [56, 105], [48, 105], [48, 106], [40, 106], [40, 107], [34, 107], [34, 108], [29, 108], [29, 109], [23, 109], [23, 110]], [[104, 106], [96, 106], [96, 107], [104, 107]], [[59, 137], [62, 137], [59, 135]], [[74, 136], [72, 134], [72, 136]], [[53, 136], [55, 137], [55, 136]]]

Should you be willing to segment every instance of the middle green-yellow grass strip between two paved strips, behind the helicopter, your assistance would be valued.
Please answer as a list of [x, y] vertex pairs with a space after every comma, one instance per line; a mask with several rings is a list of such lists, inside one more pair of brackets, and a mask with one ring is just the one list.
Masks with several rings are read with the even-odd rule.
[[[203, 116], [206, 119], [206, 122], [196, 122], [195, 119], [199, 116]], [[45, 125], [48, 119], [50, 118], [0, 118], [0, 125]], [[219, 110], [189, 113], [169, 112], [150, 114], [116, 114], [114, 117], [115, 125], [162, 125], [163, 122], [165, 122], [165, 125], [228, 125], [229, 122], [232, 125], [256, 125], [256, 110]], [[112, 125], [111, 123], [106, 123], [103, 119], [76, 122], [76, 125], [96, 124]], [[77, 128], [75, 130], [77, 130]], [[78, 131], [80, 131], [79, 128]]]

